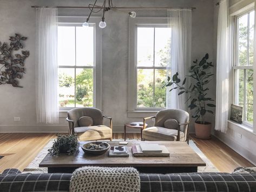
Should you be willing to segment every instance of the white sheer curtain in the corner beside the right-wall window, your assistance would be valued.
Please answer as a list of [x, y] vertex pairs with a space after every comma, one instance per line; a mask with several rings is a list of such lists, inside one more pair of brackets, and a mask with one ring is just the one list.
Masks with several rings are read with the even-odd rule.
[[215, 130], [226, 133], [228, 120], [228, 0], [219, 5], [217, 62], [216, 62], [216, 112]]

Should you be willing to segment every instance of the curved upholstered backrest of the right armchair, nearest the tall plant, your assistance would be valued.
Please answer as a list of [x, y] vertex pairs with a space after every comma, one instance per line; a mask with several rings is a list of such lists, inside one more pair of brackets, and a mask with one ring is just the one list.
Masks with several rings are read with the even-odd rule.
[[[168, 119], [177, 120], [178, 123], [187, 123], [189, 121], [189, 114], [181, 109], [163, 109], [157, 112], [155, 116], [155, 126], [165, 127], [165, 121]], [[181, 125], [180, 131], [185, 132], [186, 127], [186, 125]]]

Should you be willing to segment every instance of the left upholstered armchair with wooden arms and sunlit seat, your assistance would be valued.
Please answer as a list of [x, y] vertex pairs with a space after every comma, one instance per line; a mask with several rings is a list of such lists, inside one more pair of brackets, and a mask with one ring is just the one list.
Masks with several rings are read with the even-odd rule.
[[[103, 125], [103, 117], [110, 120], [109, 127]], [[112, 140], [112, 118], [104, 116], [96, 108], [75, 108], [68, 111], [69, 134], [77, 135], [81, 141]]]

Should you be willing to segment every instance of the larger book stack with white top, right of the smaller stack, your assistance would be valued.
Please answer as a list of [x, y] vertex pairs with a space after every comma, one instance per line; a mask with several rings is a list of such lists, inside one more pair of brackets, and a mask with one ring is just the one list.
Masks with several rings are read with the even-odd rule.
[[134, 157], [168, 157], [170, 153], [165, 145], [144, 144], [132, 146]]

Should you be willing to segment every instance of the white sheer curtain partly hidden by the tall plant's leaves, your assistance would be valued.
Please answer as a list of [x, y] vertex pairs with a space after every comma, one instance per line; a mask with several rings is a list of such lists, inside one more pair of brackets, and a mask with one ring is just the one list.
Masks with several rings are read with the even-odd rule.
[[[192, 38], [192, 10], [170, 9], [168, 10], [168, 27], [172, 29], [172, 41], [170, 44], [170, 56], [167, 65], [167, 74], [173, 76], [179, 73], [181, 81], [185, 78], [191, 65], [191, 38]], [[166, 90], [167, 108], [186, 108], [186, 95], [178, 96], [177, 89]]]

